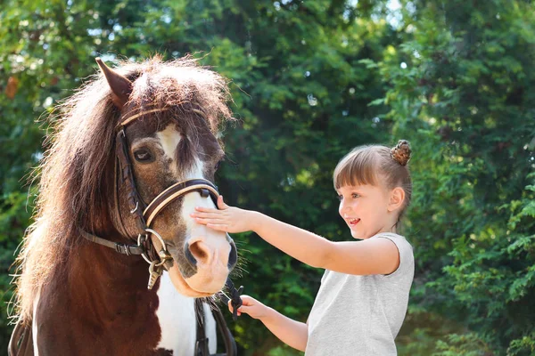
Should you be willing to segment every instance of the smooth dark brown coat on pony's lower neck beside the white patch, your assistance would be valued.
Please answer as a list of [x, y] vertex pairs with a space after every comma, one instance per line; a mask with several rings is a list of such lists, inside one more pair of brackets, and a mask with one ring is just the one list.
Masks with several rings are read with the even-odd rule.
[[38, 343], [51, 354], [152, 354], [144, 351], [161, 338], [160, 285], [147, 290], [147, 279], [142, 257], [81, 241], [34, 304]]

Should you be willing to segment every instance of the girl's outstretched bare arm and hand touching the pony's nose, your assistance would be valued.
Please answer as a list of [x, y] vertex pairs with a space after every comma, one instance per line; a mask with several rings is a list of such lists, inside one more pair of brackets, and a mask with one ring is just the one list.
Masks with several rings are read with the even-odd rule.
[[333, 242], [258, 212], [226, 206], [198, 207], [198, 223], [226, 232], [254, 231], [285, 254], [310, 266], [348, 274], [390, 274], [399, 266], [398, 247], [390, 239]]

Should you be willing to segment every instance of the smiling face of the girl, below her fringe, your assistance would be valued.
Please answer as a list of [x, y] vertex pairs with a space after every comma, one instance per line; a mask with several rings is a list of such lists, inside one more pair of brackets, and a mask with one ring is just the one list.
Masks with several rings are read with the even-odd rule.
[[337, 190], [338, 212], [355, 239], [369, 239], [378, 232], [392, 231], [396, 223], [388, 206], [390, 191], [373, 185], [343, 186]]

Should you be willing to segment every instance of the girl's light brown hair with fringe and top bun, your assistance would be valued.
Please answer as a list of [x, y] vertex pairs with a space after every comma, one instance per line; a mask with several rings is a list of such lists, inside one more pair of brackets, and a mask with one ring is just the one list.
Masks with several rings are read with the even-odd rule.
[[391, 149], [383, 145], [358, 146], [334, 168], [334, 189], [366, 184], [389, 190], [400, 187], [405, 190], [405, 200], [398, 216], [399, 221], [412, 195], [412, 181], [407, 166], [410, 154], [410, 144], [406, 140], [399, 140]]

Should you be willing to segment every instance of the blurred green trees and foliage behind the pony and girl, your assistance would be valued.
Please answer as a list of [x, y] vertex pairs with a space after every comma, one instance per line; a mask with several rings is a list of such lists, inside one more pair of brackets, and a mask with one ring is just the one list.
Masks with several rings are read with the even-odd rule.
[[[195, 53], [232, 80], [239, 122], [217, 177], [227, 202], [328, 239], [350, 239], [331, 182], [338, 159], [409, 140], [416, 274], [399, 354], [535, 354], [534, 24], [527, 0], [4, 0], [0, 354], [43, 118], [96, 56], [154, 53]], [[306, 320], [323, 271], [252, 234], [235, 240], [235, 283]], [[257, 320], [229, 324], [241, 355], [300, 354]]]

